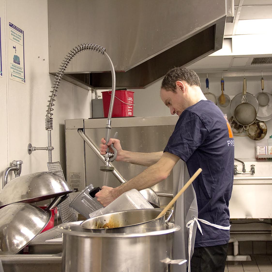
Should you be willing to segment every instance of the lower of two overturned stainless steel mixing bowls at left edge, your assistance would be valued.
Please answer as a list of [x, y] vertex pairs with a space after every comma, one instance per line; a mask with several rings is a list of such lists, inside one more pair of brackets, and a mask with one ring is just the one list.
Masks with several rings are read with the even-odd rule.
[[47, 225], [51, 211], [26, 203], [0, 209], [0, 254], [16, 254]]

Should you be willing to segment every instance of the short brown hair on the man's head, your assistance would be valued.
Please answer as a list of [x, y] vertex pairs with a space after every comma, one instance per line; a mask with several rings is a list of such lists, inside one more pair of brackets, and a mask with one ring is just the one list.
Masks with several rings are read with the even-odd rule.
[[183, 67], [175, 67], [165, 75], [160, 88], [175, 93], [177, 81], [186, 81], [190, 86], [200, 87], [199, 76], [196, 72]]

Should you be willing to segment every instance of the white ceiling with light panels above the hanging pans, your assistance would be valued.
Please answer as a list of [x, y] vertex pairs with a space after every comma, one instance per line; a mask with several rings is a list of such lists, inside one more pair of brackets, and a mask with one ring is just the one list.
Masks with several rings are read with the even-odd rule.
[[225, 25], [223, 49], [189, 67], [199, 73], [272, 71], [272, 64], [251, 65], [254, 57], [272, 57], [271, 28], [272, 0], [234, 0], [234, 21]]

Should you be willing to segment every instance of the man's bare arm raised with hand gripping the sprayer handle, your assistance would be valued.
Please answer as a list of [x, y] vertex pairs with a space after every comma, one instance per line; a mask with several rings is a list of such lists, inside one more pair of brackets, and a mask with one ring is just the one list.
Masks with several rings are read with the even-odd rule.
[[[101, 139], [100, 154], [101, 155], [106, 154], [107, 147], [110, 147], [111, 144], [113, 144], [113, 146], [117, 150], [116, 161], [120, 161], [120, 162], [129, 162], [129, 163], [137, 164], [137, 165], [150, 166], [150, 165], [153, 165], [154, 163], [157, 163], [163, 154], [162, 151], [153, 152], [153, 153], [140, 153], [140, 152], [126, 151], [122, 149], [120, 141], [118, 139], [113, 139], [113, 138], [109, 140], [108, 145], [106, 145], [105, 139]], [[110, 147], [110, 151], [113, 152], [111, 147]]]

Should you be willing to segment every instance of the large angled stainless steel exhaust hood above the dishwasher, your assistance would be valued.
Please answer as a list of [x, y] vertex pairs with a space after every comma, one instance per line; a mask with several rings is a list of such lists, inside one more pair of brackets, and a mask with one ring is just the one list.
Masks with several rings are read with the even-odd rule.
[[[78, 44], [96, 43], [112, 58], [116, 87], [144, 88], [221, 49], [225, 21], [225, 0], [48, 0], [49, 72]], [[107, 61], [93, 52], [79, 54], [64, 79], [111, 86]]]

